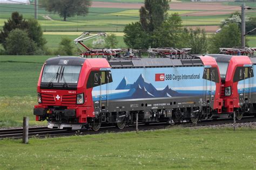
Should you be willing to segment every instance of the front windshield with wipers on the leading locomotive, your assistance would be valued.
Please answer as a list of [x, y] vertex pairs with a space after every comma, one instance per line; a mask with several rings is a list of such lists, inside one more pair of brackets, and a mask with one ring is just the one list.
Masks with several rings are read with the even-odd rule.
[[45, 65], [42, 82], [77, 83], [81, 66]]

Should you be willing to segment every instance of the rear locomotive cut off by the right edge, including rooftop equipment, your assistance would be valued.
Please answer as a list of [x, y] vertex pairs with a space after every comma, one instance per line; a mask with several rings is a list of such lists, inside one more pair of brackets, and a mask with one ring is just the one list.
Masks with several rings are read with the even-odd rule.
[[[228, 54], [246, 54], [240, 48], [221, 48], [221, 52], [228, 50]], [[247, 53], [250, 56], [253, 53]], [[221, 98], [223, 98], [222, 117], [228, 117], [233, 112], [237, 119], [244, 114], [253, 115], [256, 112], [254, 70], [256, 59], [246, 55], [208, 54], [218, 63], [221, 77]]]

